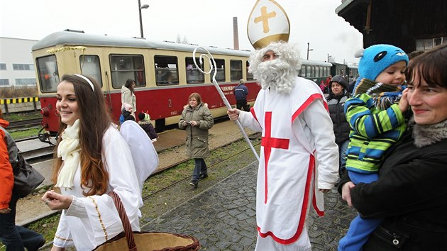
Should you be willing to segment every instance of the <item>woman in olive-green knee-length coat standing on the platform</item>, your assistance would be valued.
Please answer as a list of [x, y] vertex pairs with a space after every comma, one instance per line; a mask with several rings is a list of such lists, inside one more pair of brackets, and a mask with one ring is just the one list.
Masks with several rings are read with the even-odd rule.
[[208, 177], [204, 158], [209, 156], [208, 130], [213, 127], [214, 120], [200, 94], [194, 92], [189, 95], [188, 103], [182, 111], [179, 128], [187, 133], [187, 155], [195, 162], [192, 181], [189, 184], [196, 189], [199, 179]]

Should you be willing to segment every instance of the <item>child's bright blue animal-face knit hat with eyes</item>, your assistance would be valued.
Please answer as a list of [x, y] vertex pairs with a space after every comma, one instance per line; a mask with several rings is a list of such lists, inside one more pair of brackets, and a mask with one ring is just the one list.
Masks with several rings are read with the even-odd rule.
[[367, 78], [374, 81], [387, 67], [399, 61], [408, 65], [407, 54], [394, 45], [371, 45], [356, 52], [355, 57], [361, 57], [358, 62], [359, 80]]

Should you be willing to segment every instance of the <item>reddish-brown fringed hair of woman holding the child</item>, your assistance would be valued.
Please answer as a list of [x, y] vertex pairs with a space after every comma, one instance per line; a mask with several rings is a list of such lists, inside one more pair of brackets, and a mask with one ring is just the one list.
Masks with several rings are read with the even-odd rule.
[[408, 65], [409, 82], [415, 74], [430, 87], [447, 88], [447, 43], [427, 50], [410, 60]]

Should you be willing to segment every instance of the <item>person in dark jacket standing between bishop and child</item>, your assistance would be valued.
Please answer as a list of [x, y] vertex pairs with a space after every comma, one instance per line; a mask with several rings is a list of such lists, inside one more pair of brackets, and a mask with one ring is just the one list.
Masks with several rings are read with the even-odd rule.
[[329, 113], [333, 123], [333, 133], [336, 136], [336, 144], [338, 145], [338, 152], [340, 154], [340, 164], [338, 166], [338, 172], [341, 174], [344, 172], [346, 166], [346, 149], [349, 144], [349, 127], [348, 121], [346, 121], [346, 115], [343, 111], [346, 99], [351, 96], [348, 91], [348, 82], [340, 75], [335, 75], [329, 82], [329, 96], [326, 98], [329, 106]]

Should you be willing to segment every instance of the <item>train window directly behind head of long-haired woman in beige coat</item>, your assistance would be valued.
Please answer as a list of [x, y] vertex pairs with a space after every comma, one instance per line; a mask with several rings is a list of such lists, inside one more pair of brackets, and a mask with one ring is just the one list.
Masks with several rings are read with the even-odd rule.
[[112, 87], [121, 88], [127, 79], [134, 79], [136, 87], [145, 86], [142, 55], [110, 55]]

